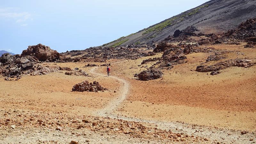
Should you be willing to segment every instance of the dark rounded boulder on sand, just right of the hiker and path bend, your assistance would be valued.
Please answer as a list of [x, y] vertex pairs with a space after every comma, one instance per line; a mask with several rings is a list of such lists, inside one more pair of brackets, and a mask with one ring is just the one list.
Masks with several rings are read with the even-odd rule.
[[161, 78], [162, 76], [163, 76], [162, 71], [160, 71], [157, 68], [148, 69], [148, 70], [142, 71], [138, 74], [139, 80], [142, 80], [142, 81], [158, 79], [158, 78]]

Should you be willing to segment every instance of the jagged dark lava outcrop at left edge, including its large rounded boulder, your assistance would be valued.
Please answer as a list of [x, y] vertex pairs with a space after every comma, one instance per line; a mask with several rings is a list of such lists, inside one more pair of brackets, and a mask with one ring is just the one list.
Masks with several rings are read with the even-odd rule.
[[60, 67], [44, 67], [41, 61], [55, 61], [60, 57], [60, 53], [53, 51], [50, 47], [37, 44], [28, 46], [21, 55], [3, 54], [0, 57], [2, 64], [1, 74], [5, 76], [5, 80], [10, 78], [19, 79], [21, 75], [45, 75], [60, 70]]

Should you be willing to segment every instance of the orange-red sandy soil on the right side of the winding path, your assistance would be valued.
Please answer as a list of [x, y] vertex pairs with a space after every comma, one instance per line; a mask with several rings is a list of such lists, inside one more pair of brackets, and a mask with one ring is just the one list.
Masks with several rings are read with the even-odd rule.
[[[256, 49], [247, 49], [243, 45], [220, 44], [209, 47], [239, 51], [228, 53], [227, 59], [256, 57]], [[210, 54], [191, 53], [187, 55], [187, 63], [174, 65], [171, 70], [164, 70], [162, 79], [147, 82], [135, 80], [133, 75], [147, 69], [141, 68], [144, 65], [138, 65], [149, 57], [114, 64], [111, 67], [113, 75], [124, 77], [132, 85], [128, 99], [116, 113], [255, 131], [256, 66], [226, 68], [217, 76], [207, 75], [210, 72], [196, 72], [196, 66], [205, 62]], [[160, 56], [161, 54], [152, 57]], [[208, 62], [208, 65], [216, 62], [218, 61]], [[146, 65], [150, 67], [153, 63]]]

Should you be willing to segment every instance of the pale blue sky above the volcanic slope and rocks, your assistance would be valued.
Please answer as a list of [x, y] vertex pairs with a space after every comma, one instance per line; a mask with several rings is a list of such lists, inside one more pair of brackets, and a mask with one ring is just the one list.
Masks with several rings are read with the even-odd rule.
[[208, 0], [0, 0], [0, 50], [44, 44], [84, 50], [127, 36]]

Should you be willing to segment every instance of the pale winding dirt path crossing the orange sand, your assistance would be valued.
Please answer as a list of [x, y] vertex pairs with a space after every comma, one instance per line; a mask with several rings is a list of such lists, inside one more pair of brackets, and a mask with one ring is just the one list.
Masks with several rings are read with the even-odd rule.
[[[94, 67], [90, 70], [90, 73], [94, 75], [98, 75], [100, 77], [105, 77], [106, 75], [95, 72], [95, 69], [98, 67]], [[108, 106], [96, 111], [96, 116], [102, 117], [110, 117], [113, 119], [122, 119], [125, 121], [134, 121], [134, 122], [142, 122], [142, 123], [150, 123], [156, 124], [159, 129], [162, 130], [172, 130], [172, 132], [176, 133], [186, 133], [188, 135], [194, 135], [198, 137], [204, 137], [210, 140], [209, 143], [250, 143], [249, 138], [256, 138], [256, 133], [247, 133], [246, 135], [241, 135], [240, 131], [230, 130], [230, 129], [222, 129], [222, 128], [213, 128], [207, 126], [200, 125], [191, 125], [179, 122], [163, 122], [163, 121], [155, 121], [149, 119], [141, 119], [136, 117], [125, 117], [114, 114], [114, 110], [126, 99], [130, 84], [124, 79], [121, 79], [116, 76], [109, 76], [109, 78], [116, 79], [123, 83], [122, 88], [120, 89], [119, 97], [113, 99], [109, 102]], [[197, 130], [197, 132], [196, 132]]]

